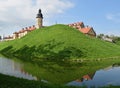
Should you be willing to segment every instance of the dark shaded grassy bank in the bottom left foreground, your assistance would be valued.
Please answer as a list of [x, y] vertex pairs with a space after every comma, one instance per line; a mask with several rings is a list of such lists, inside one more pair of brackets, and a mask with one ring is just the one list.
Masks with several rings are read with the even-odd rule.
[[[72, 86], [53, 85], [34, 80], [25, 80], [0, 74], [0, 88], [77, 88]], [[83, 87], [84, 88], [84, 87]]]

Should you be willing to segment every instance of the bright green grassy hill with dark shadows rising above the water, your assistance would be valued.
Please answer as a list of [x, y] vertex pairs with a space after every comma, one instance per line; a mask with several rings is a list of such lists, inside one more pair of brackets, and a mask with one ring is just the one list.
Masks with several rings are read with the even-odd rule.
[[119, 45], [60, 24], [35, 30], [21, 39], [1, 42], [0, 50], [5, 55], [29, 59], [97, 59], [120, 55]]

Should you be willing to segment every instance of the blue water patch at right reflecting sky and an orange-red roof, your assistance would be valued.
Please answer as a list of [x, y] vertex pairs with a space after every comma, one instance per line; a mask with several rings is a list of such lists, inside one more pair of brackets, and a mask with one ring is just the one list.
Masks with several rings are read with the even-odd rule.
[[120, 67], [109, 66], [96, 71], [93, 74], [86, 74], [82, 78], [69, 82], [67, 85], [73, 86], [107, 86], [120, 85]]

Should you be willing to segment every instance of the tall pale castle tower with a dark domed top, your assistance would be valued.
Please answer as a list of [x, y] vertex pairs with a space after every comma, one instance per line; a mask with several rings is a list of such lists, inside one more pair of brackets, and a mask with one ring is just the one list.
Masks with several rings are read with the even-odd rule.
[[41, 28], [43, 25], [43, 15], [41, 13], [41, 9], [39, 9], [37, 17], [36, 17], [36, 28], [39, 29]]

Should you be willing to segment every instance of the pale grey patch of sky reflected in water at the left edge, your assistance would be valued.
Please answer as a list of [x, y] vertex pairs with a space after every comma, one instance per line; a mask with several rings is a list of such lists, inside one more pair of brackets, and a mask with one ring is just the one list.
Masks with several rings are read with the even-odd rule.
[[24, 71], [23, 64], [6, 58], [0, 58], [0, 73], [29, 80], [37, 80], [36, 77]]

